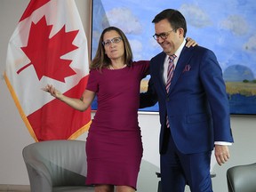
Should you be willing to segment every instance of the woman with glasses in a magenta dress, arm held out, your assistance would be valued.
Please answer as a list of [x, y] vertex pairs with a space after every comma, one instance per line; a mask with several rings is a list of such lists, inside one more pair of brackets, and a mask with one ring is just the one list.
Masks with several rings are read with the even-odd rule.
[[[194, 41], [190, 41], [193, 44]], [[132, 61], [131, 46], [119, 28], [103, 30], [92, 60], [87, 87], [80, 100], [68, 98], [52, 85], [44, 91], [84, 111], [97, 95], [98, 109], [86, 140], [86, 184], [95, 192], [134, 192], [140, 171], [142, 142], [138, 123], [140, 80], [149, 61]]]

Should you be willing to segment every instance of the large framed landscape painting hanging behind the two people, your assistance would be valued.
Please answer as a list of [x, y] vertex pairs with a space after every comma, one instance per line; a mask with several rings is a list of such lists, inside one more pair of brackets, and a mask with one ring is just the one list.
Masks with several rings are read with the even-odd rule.
[[[166, 8], [179, 10], [187, 20], [187, 36], [216, 54], [227, 87], [230, 114], [256, 115], [256, 4], [252, 0], [92, 0], [91, 57], [102, 30], [116, 26], [128, 37], [133, 59], [150, 60], [162, 52], [152, 37], [155, 30], [151, 21]], [[149, 77], [141, 81], [141, 92], [147, 90]], [[92, 109], [97, 109], [96, 100]], [[141, 111], [158, 112], [158, 105]]]

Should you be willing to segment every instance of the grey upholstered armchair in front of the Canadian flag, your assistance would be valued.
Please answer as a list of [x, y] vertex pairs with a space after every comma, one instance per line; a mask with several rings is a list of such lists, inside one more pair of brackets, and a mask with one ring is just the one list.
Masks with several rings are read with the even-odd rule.
[[86, 186], [85, 141], [49, 140], [28, 145], [22, 155], [31, 192], [93, 192]]

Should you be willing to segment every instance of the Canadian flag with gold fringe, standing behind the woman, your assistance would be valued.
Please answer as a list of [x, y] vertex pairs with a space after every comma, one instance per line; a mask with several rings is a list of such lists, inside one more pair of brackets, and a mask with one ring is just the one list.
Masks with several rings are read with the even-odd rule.
[[80, 98], [87, 84], [87, 40], [75, 0], [31, 0], [8, 45], [4, 80], [36, 141], [73, 140], [91, 124], [41, 89]]

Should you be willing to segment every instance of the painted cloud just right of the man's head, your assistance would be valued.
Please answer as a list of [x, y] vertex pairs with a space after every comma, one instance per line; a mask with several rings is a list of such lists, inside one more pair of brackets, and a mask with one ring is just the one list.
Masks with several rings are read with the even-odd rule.
[[207, 13], [199, 6], [196, 6], [196, 4], [182, 4], [180, 6], [180, 12], [186, 18], [187, 23], [191, 26], [204, 28], [211, 25], [211, 20]]

